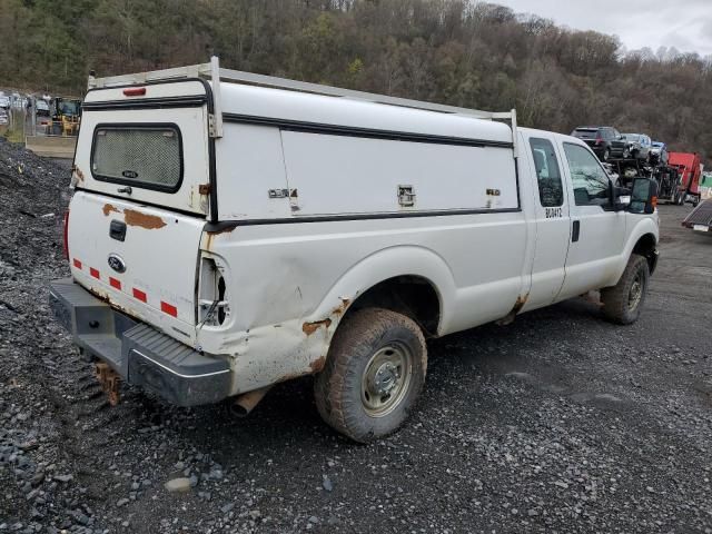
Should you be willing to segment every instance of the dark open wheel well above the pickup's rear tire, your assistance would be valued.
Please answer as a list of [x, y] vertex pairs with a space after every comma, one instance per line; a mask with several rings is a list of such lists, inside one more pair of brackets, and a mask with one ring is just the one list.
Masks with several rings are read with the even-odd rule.
[[441, 299], [433, 284], [421, 276], [397, 276], [376, 284], [354, 300], [348, 313], [368, 307], [386, 308], [406, 315], [428, 337], [437, 336]]

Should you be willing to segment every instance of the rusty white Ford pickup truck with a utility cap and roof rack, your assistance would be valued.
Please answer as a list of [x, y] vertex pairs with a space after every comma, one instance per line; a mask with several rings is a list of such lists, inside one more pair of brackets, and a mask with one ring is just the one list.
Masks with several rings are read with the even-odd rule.
[[428, 337], [601, 290], [634, 322], [654, 182], [611, 184], [573, 137], [488, 113], [221, 69], [90, 77], [50, 301], [119, 382], [249, 412], [315, 375], [368, 442], [397, 429]]

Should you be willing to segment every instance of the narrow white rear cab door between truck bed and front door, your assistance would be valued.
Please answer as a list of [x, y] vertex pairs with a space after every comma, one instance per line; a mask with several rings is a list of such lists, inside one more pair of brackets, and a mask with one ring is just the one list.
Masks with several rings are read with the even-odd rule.
[[536, 176], [534, 217], [536, 244], [532, 266], [532, 288], [524, 309], [547, 306], [566, 277], [565, 265], [571, 236], [568, 195], [564, 187], [555, 139], [535, 132], [525, 138], [526, 158]]

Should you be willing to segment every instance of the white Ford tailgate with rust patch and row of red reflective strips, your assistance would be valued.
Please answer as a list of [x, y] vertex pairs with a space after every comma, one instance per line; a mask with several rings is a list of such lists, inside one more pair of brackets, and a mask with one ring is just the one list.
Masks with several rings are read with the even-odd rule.
[[165, 208], [77, 191], [67, 229], [72, 276], [126, 314], [192, 345], [204, 225]]

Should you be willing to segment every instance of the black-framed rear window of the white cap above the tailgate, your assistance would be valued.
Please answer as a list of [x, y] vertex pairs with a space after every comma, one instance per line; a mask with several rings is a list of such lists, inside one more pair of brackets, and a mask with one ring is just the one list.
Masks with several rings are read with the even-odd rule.
[[182, 180], [180, 130], [175, 125], [99, 125], [91, 174], [101, 181], [175, 192]]

